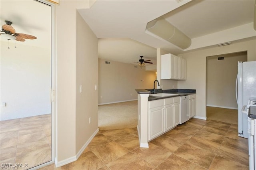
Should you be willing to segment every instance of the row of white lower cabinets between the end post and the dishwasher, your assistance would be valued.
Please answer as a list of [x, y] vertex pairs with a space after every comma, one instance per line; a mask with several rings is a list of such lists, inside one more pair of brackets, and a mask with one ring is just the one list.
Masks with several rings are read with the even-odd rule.
[[148, 102], [148, 140], [180, 124], [180, 97]]

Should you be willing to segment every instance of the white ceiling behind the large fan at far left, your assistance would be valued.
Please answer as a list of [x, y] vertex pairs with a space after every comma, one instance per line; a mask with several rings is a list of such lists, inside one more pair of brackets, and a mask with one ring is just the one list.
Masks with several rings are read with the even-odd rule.
[[[51, 7], [35, 0], [0, 0], [0, 25], [12, 22], [18, 33], [36, 36], [35, 40], [25, 42], [10, 41], [10, 49], [19, 44], [51, 48]], [[1, 28], [2, 30], [2, 28]], [[0, 36], [1, 41], [3, 38]]]

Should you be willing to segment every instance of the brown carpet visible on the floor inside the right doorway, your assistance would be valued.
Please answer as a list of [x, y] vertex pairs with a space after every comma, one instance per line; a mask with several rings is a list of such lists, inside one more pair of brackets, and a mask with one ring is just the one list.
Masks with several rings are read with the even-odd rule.
[[206, 107], [207, 119], [238, 125], [238, 110], [220, 107]]

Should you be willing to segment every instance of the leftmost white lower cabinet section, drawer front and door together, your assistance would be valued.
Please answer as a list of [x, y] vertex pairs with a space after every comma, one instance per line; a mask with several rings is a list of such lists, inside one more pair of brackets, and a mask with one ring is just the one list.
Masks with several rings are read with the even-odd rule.
[[164, 132], [164, 99], [148, 102], [148, 140]]

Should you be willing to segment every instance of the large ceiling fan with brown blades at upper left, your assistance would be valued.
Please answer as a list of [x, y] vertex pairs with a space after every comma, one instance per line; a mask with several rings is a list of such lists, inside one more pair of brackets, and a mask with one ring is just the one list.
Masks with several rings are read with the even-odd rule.
[[4, 33], [0, 33], [0, 35], [6, 36], [7, 40], [16, 40], [19, 42], [24, 42], [25, 39], [29, 39], [29, 40], [36, 39], [36, 37], [32, 35], [15, 32], [14, 28], [11, 26], [12, 22], [7, 20], [4, 22], [6, 24], [2, 25], [2, 30], [0, 30], [0, 32], [4, 32]]

